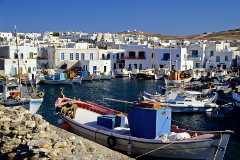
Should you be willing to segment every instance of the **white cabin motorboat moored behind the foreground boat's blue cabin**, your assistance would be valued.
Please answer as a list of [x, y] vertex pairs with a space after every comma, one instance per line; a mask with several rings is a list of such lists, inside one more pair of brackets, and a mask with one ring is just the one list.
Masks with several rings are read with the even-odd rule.
[[182, 91], [175, 100], [161, 102], [161, 106], [171, 107], [172, 112], [211, 112], [218, 107], [218, 93], [203, 95], [199, 91]]

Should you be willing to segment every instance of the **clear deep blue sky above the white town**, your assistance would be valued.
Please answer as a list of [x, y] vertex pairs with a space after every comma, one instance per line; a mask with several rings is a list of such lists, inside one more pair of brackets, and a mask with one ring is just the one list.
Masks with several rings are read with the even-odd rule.
[[134, 30], [184, 36], [240, 28], [240, 0], [0, 0], [0, 32]]

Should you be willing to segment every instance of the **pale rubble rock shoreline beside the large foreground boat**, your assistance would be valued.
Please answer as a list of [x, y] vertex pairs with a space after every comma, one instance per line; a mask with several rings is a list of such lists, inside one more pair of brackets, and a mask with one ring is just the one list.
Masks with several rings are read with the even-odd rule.
[[132, 159], [49, 124], [21, 106], [0, 105], [0, 159]]

